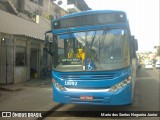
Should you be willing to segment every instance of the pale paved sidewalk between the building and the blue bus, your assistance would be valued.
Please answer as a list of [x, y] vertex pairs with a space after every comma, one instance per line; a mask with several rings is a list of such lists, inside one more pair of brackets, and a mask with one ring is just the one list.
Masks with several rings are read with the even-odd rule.
[[51, 79], [32, 79], [13, 85], [0, 86], [0, 111], [48, 111], [52, 100]]

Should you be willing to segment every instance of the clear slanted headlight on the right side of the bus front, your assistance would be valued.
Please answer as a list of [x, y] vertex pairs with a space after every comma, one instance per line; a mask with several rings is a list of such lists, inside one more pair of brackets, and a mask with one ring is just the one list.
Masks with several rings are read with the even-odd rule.
[[125, 87], [127, 84], [129, 84], [131, 82], [131, 77], [129, 76], [127, 79], [123, 80], [122, 82], [114, 85], [113, 87], [111, 87], [109, 89], [108, 92], [116, 92], [118, 91], [119, 89]]

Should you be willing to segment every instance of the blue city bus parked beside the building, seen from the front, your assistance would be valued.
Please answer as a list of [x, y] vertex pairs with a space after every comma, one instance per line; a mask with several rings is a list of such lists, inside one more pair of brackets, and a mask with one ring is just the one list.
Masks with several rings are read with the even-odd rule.
[[125, 12], [84, 11], [52, 21], [53, 100], [125, 105], [133, 101], [136, 42]]

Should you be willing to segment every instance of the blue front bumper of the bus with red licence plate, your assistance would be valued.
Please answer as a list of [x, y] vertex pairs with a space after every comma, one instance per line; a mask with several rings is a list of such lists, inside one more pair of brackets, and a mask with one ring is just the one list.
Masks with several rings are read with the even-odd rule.
[[126, 105], [132, 103], [132, 84], [115, 92], [107, 91], [61, 91], [53, 85], [53, 100], [66, 104]]

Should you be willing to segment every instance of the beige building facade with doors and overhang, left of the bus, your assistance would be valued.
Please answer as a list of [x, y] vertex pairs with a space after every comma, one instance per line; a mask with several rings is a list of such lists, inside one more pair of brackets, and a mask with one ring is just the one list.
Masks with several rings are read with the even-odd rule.
[[51, 29], [51, 17], [67, 12], [47, 0], [41, 2], [44, 6], [33, 0], [0, 0], [0, 84], [39, 78], [41, 69], [51, 66], [44, 33]]

